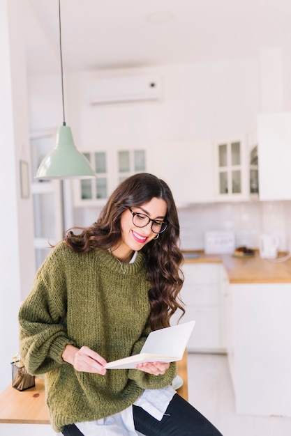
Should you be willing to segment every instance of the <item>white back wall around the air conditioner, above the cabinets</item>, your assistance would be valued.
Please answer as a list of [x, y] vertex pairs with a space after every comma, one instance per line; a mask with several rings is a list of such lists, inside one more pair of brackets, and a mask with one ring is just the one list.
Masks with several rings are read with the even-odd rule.
[[[96, 77], [144, 72], [161, 76], [161, 102], [91, 106]], [[67, 75], [65, 86], [67, 123], [80, 148], [228, 137], [248, 132], [258, 112], [256, 59], [82, 72]], [[31, 77], [29, 95], [32, 129], [61, 123], [57, 77]]]

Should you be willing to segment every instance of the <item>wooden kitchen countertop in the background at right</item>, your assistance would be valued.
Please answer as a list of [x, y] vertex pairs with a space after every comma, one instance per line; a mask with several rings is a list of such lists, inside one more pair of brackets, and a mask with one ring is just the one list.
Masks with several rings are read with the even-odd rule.
[[[278, 259], [284, 256], [280, 253]], [[291, 258], [283, 262], [277, 260], [262, 259], [258, 251], [249, 258], [199, 251], [198, 258], [186, 258], [185, 263], [223, 263], [230, 283], [291, 283]]]

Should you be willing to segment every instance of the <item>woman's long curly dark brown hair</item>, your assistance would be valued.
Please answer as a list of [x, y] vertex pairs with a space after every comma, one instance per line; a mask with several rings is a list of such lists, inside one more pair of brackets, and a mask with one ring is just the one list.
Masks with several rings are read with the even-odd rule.
[[68, 247], [79, 253], [95, 248], [110, 249], [120, 241], [122, 213], [154, 197], [167, 203], [167, 228], [157, 240], [145, 244], [141, 251], [146, 257], [147, 277], [151, 283], [151, 329], [160, 329], [170, 325], [170, 318], [177, 309], [182, 315], [185, 312], [179, 297], [184, 282], [180, 269], [183, 255], [178, 246], [179, 219], [172, 192], [163, 180], [149, 173], [137, 173], [127, 178], [114, 190], [94, 224], [79, 228], [81, 233], [78, 235], [68, 231], [64, 240]]

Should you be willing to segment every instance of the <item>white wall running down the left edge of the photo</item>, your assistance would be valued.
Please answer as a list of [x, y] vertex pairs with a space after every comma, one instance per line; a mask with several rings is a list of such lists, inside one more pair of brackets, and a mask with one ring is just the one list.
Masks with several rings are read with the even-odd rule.
[[33, 210], [20, 196], [20, 160], [30, 165], [22, 1], [0, 1], [0, 391], [11, 382], [18, 351], [17, 313], [34, 274]]

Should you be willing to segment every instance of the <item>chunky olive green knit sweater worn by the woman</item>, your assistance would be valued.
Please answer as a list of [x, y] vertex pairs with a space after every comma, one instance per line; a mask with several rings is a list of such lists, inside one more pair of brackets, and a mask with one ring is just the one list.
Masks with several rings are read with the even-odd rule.
[[61, 242], [38, 270], [19, 313], [20, 355], [31, 374], [45, 373], [57, 432], [66, 424], [120, 412], [144, 389], [172, 382], [174, 363], [158, 377], [137, 369], [100, 375], [75, 371], [61, 358], [66, 344], [87, 345], [107, 361], [140, 352], [150, 332], [149, 286], [142, 253], [124, 274], [111, 254], [98, 249], [76, 254]]

